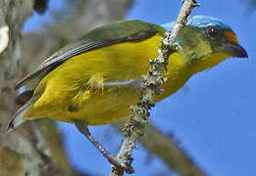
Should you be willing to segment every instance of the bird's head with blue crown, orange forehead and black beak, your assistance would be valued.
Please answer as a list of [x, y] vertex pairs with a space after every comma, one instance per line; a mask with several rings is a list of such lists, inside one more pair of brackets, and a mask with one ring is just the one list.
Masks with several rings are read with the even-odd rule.
[[[173, 23], [163, 26], [170, 30]], [[179, 53], [194, 72], [216, 66], [230, 57], [248, 57], [230, 26], [211, 17], [190, 17], [179, 31], [177, 43]]]

